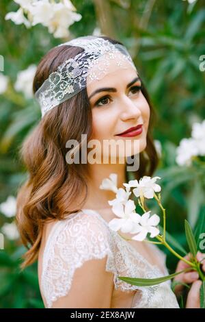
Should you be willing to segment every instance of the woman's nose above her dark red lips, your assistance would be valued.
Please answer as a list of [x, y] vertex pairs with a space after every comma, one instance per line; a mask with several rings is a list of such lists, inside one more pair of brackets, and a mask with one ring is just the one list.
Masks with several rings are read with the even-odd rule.
[[124, 97], [120, 103], [121, 119], [137, 119], [141, 115], [139, 102], [135, 102], [129, 97]]

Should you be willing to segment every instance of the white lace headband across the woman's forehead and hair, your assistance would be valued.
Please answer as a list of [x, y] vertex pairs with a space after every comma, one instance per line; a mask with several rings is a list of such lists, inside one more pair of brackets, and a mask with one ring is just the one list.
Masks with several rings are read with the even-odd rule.
[[[46, 112], [70, 99], [90, 82], [102, 79], [109, 72], [110, 62], [115, 68], [128, 68], [124, 62], [129, 62], [136, 70], [131, 55], [126, 47], [111, 44], [109, 40], [98, 36], [83, 36], [72, 39], [62, 45], [77, 46], [85, 49], [74, 58], [69, 58], [57, 67], [38, 88], [35, 97], [40, 104], [42, 117]], [[119, 52], [122, 55], [119, 55]], [[94, 67], [94, 69], [92, 69]], [[92, 70], [91, 70], [92, 69]]]

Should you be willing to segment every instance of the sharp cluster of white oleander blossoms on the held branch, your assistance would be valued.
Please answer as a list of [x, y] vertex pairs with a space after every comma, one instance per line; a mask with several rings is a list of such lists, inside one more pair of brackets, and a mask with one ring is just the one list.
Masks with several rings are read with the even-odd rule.
[[[109, 221], [109, 227], [111, 230], [117, 232], [121, 230], [124, 233], [136, 234], [133, 240], [144, 240], [148, 233], [150, 237], [154, 238], [159, 235], [159, 229], [156, 225], [159, 224], [160, 218], [157, 214], [150, 216], [150, 211], [145, 212], [142, 216], [135, 212], [135, 202], [128, 199], [131, 195], [130, 189], [135, 190], [136, 197], [154, 197], [154, 192], [161, 191], [161, 186], [156, 184], [156, 179], [161, 179], [160, 177], [148, 177], [143, 176], [139, 179], [130, 180], [128, 184], [124, 183], [126, 190], [123, 188], [117, 188], [117, 174], [111, 173], [110, 179], [103, 179], [101, 188], [105, 190], [112, 190], [116, 193], [115, 199], [108, 201], [109, 205], [112, 206], [112, 212], [118, 218], [114, 218]], [[117, 190], [116, 190], [117, 189]]]

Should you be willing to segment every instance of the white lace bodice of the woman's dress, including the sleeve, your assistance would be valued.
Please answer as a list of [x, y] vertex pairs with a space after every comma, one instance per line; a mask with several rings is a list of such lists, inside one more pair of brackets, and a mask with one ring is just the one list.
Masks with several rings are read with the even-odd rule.
[[[164, 275], [165, 253], [149, 244], [162, 258]], [[135, 290], [131, 308], [179, 308], [171, 289], [171, 281], [156, 286], [134, 286], [120, 279], [126, 277], [160, 277], [163, 273], [151, 265], [130, 243], [114, 232], [98, 212], [83, 209], [57, 221], [46, 241], [42, 259], [41, 286], [46, 307], [68, 294], [75, 269], [83, 262], [107, 256], [106, 271], [113, 273], [115, 289], [124, 292]]]

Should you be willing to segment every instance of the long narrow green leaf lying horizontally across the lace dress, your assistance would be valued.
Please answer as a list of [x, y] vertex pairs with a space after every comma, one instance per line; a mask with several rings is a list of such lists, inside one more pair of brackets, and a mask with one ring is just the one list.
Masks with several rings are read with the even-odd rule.
[[189, 271], [190, 269], [192, 269], [192, 267], [190, 267], [188, 269], [184, 269], [183, 271], [180, 271], [178, 273], [174, 273], [174, 274], [163, 276], [163, 277], [157, 277], [157, 278], [135, 278], [135, 277], [122, 277], [122, 276], [120, 276], [118, 278], [120, 278], [120, 280], [122, 280], [128, 284], [132, 284], [132, 285], [136, 285], [136, 286], [153, 286], [153, 285], [163, 283], [167, 280], [171, 280], [176, 275], [179, 275], [185, 271]]

